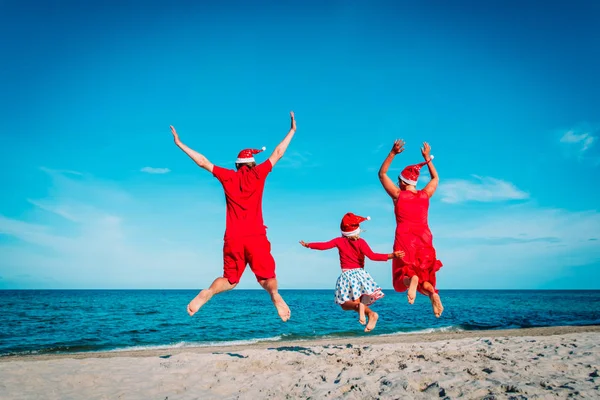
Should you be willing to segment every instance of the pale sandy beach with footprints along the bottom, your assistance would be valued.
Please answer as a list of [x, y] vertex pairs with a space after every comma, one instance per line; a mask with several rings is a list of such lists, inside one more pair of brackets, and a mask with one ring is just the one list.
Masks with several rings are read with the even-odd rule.
[[600, 326], [0, 358], [2, 399], [600, 398]]

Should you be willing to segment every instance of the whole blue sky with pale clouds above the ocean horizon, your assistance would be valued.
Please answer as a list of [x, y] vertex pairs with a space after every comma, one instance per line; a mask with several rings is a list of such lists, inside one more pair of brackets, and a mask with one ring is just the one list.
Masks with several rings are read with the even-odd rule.
[[[294, 110], [264, 199], [282, 288], [334, 286], [336, 252], [297, 242], [347, 211], [391, 249], [377, 169], [403, 138], [390, 175], [422, 141], [436, 156], [441, 289], [598, 289], [599, 18], [594, 1], [2, 2], [0, 288], [206, 287], [224, 198], [169, 125], [233, 167]], [[391, 287], [391, 263], [367, 268]]]

